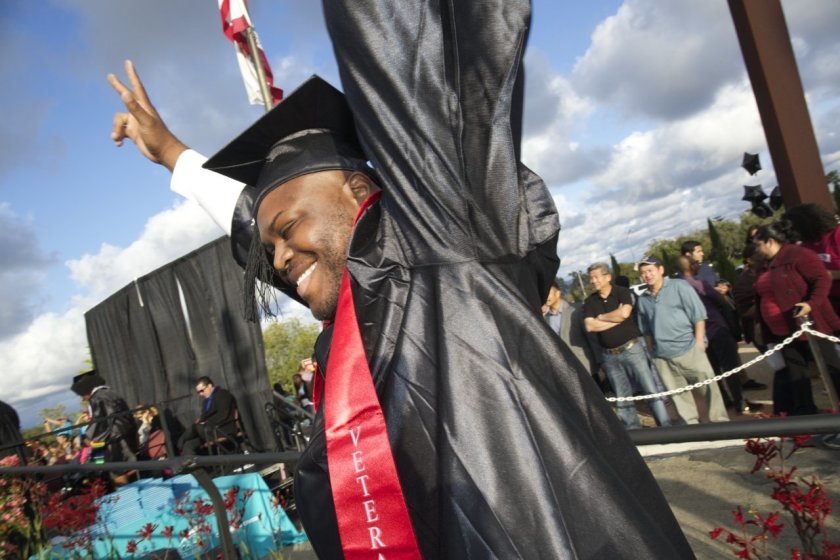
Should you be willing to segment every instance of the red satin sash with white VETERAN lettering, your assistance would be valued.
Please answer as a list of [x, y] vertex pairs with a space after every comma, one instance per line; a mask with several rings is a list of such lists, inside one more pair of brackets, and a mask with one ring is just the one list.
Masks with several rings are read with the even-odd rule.
[[[356, 219], [378, 199], [368, 197]], [[346, 268], [324, 383], [327, 465], [344, 557], [419, 560]]]

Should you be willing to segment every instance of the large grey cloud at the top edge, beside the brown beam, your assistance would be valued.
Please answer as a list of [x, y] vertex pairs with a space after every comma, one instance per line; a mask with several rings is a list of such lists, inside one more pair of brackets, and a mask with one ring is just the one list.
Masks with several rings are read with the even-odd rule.
[[670, 119], [702, 109], [743, 72], [724, 2], [628, 0], [595, 29], [572, 82], [626, 115]]

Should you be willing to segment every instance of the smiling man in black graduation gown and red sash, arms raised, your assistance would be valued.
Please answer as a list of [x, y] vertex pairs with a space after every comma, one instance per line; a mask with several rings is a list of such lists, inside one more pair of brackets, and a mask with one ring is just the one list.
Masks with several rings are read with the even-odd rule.
[[[231, 220], [248, 277], [334, 320], [316, 348], [322, 400], [296, 473], [319, 557], [693, 557], [600, 391], [539, 316], [559, 224], [518, 161], [529, 3], [325, 12], [358, 141], [342, 118], [321, 120], [339, 102], [307, 82], [264, 118], [286, 113], [280, 124], [255, 124], [207, 162], [254, 185], [238, 198], [195, 179], [203, 158], [165, 129], [130, 64], [133, 93], [109, 77], [129, 110], [114, 140], [134, 140], [173, 170], [173, 189]], [[301, 114], [313, 122], [284, 128]], [[341, 138], [332, 156], [324, 128]]]

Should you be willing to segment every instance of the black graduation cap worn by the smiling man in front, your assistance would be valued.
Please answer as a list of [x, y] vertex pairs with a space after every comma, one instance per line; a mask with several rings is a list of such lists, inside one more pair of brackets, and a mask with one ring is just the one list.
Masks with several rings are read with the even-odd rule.
[[330, 169], [370, 172], [347, 100], [314, 75], [204, 167], [256, 187], [254, 210], [269, 190], [300, 175]]

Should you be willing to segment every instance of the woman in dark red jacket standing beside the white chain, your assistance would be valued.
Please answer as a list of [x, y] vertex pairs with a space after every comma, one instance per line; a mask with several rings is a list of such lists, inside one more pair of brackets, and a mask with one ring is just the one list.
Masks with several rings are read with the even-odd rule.
[[[811, 250], [789, 241], [795, 239], [790, 222], [762, 226], [755, 236], [756, 250], [765, 266], [755, 282], [758, 316], [765, 342], [777, 343], [797, 330], [800, 317], [809, 315], [813, 327], [824, 333], [840, 329], [840, 318], [828, 301], [831, 278], [820, 258]], [[832, 380], [840, 379], [840, 360], [834, 345], [817, 339]], [[789, 415], [814, 414], [808, 345], [796, 340], [782, 350], [787, 367], [773, 380], [773, 411]]]

